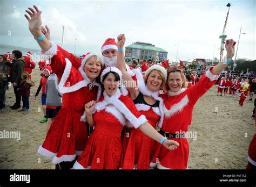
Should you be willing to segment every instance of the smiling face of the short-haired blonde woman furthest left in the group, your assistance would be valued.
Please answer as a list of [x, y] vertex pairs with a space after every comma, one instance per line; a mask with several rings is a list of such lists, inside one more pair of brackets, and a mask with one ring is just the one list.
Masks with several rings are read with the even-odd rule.
[[91, 56], [84, 65], [84, 72], [91, 81], [94, 81], [100, 74], [102, 63], [98, 56]]

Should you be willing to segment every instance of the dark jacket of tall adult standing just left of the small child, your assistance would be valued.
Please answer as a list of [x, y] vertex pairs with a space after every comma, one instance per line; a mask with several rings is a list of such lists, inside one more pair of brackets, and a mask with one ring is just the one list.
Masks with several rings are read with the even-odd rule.
[[12, 61], [12, 66], [11, 66], [11, 73], [10, 73], [10, 82], [14, 83], [16, 82], [19, 84], [21, 81], [21, 74], [24, 71], [24, 60], [23, 59], [16, 59]]

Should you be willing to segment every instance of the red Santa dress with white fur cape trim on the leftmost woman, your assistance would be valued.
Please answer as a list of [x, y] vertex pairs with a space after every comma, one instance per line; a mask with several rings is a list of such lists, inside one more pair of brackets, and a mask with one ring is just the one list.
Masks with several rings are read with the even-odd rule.
[[88, 139], [82, 117], [84, 105], [99, 98], [101, 92], [99, 83], [91, 82], [83, 71], [86, 60], [77, 70], [60, 51], [59, 46], [52, 44], [44, 53], [51, 56], [52, 70], [60, 80], [58, 87], [63, 103], [43, 145], [38, 149], [39, 154], [52, 157], [54, 164], [75, 160], [76, 155], [83, 152]]

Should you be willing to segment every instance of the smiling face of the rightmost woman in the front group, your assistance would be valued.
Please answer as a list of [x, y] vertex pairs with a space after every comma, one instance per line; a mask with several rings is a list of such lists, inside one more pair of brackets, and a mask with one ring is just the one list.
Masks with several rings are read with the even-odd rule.
[[169, 86], [170, 91], [178, 92], [183, 86], [183, 78], [181, 77], [180, 72], [175, 71], [169, 74], [167, 84]]

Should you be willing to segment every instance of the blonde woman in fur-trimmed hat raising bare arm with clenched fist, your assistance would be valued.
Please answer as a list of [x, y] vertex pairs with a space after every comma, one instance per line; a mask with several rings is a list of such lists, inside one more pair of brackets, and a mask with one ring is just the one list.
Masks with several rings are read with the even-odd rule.
[[[156, 128], [161, 116], [164, 116], [163, 99], [159, 97], [159, 91], [166, 82], [167, 71], [164, 67], [153, 65], [145, 71], [145, 77], [139, 69], [135, 69], [137, 83], [127, 73], [124, 61], [124, 52], [121, 51], [125, 44], [125, 35], [118, 36], [117, 66], [122, 71], [126, 88], [130, 92], [131, 99], [136, 108]], [[120, 50], [121, 49], [121, 50]], [[133, 83], [132, 83], [133, 82]], [[162, 118], [163, 120], [163, 118]], [[150, 162], [154, 154], [156, 142], [145, 135], [138, 128], [126, 124], [123, 141], [123, 155], [121, 169], [150, 169]]]

